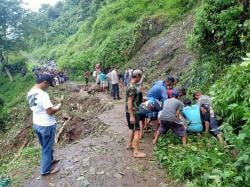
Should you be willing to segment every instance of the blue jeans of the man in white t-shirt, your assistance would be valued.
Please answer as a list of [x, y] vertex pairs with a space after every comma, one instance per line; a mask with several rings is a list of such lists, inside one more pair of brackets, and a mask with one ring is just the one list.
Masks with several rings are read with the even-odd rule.
[[45, 175], [50, 172], [53, 161], [53, 147], [55, 143], [56, 125], [43, 127], [39, 125], [33, 126], [39, 143], [42, 146], [41, 153], [41, 175]]

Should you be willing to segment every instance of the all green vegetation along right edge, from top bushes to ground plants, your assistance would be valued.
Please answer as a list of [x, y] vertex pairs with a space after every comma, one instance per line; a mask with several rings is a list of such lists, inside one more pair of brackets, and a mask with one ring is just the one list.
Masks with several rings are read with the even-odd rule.
[[[249, 3], [206, 0], [198, 9], [189, 45], [197, 61], [184, 74], [190, 90], [203, 90], [213, 98], [223, 118], [220, 127], [227, 146], [209, 136], [189, 136], [189, 145], [173, 145], [164, 136], [155, 155], [168, 175], [188, 186], [249, 186], [250, 184], [250, 49]], [[233, 65], [228, 66], [228, 64]]]

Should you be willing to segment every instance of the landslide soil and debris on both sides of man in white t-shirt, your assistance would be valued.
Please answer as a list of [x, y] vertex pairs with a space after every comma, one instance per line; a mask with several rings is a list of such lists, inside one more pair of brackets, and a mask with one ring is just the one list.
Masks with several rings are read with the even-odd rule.
[[[99, 135], [106, 128], [96, 116], [109, 109], [111, 104], [105, 98], [101, 100], [96, 92], [88, 94], [88, 89], [69, 84], [49, 90], [52, 103], [62, 102], [62, 109], [56, 114], [57, 143], [71, 143], [89, 135]], [[1, 157], [16, 153], [37, 141], [32, 129], [32, 113], [26, 103], [13, 109], [8, 123], [12, 128], [8, 133], [1, 134]]]

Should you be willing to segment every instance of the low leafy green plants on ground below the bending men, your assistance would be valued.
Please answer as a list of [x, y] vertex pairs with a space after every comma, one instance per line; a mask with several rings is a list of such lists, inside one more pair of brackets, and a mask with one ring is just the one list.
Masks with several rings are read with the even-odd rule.
[[238, 179], [230, 149], [211, 135], [188, 136], [188, 146], [172, 134], [162, 136], [154, 154], [174, 180], [188, 186], [233, 186]]

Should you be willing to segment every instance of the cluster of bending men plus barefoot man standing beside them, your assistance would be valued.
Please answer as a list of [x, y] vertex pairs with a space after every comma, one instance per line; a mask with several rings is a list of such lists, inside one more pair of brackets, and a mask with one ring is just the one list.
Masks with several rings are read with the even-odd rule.
[[175, 88], [178, 77], [168, 76], [166, 80], [156, 81], [142, 99], [141, 87], [138, 86], [142, 76], [141, 70], [134, 70], [126, 88], [127, 149], [134, 150], [134, 157], [146, 156], [139, 151], [139, 140], [149, 126], [154, 130], [153, 144], [170, 129], [181, 138], [184, 146], [187, 135], [202, 132], [211, 133], [220, 144], [224, 144], [209, 96], [197, 91], [193, 93], [192, 101], [186, 96], [185, 89]]

